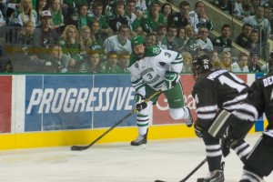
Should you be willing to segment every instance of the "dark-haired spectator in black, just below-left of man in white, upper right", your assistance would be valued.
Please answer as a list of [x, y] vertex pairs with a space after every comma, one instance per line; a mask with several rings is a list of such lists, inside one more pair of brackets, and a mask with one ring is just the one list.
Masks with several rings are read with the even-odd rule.
[[244, 24], [242, 27], [242, 32], [236, 38], [235, 43], [240, 45], [243, 48], [249, 49], [250, 46], [248, 43], [248, 39], [251, 34], [251, 30], [252, 30], [252, 25]]

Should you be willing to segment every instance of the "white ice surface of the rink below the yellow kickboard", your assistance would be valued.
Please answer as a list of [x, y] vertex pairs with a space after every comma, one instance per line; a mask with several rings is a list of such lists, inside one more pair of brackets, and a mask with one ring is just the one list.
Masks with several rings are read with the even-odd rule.
[[[247, 137], [253, 144], [258, 134]], [[95, 144], [84, 151], [70, 147], [0, 152], [1, 182], [178, 182], [205, 159], [200, 138], [148, 141], [146, 149], [128, 143]], [[224, 158], [227, 182], [238, 181], [242, 164], [232, 151]], [[207, 176], [207, 163], [187, 181]], [[265, 179], [273, 181], [273, 175]]]

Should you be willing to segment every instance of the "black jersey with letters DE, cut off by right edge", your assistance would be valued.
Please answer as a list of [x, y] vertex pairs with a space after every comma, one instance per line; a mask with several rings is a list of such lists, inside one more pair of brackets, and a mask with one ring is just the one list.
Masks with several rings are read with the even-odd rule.
[[249, 87], [245, 102], [234, 112], [243, 120], [255, 121], [265, 113], [268, 130], [273, 129], [273, 72], [258, 78]]

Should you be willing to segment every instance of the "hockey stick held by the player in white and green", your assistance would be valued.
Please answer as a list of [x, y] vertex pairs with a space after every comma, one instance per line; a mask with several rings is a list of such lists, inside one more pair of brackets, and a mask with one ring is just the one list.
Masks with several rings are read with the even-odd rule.
[[[145, 102], [147, 103], [149, 100], [151, 100], [153, 97], [155, 96], [159, 96], [161, 94], [161, 91], [157, 91], [154, 95], [148, 97]], [[103, 136], [106, 136], [107, 133], [109, 133], [112, 129], [114, 129], [116, 126], [118, 126], [119, 124], [121, 124], [122, 122], [124, 122], [126, 120], [127, 117], [129, 116], [132, 116], [133, 114], [136, 113], [136, 108], [133, 109], [129, 114], [127, 114], [126, 116], [124, 116], [123, 118], [121, 118], [119, 121], [116, 122], [116, 124], [112, 127], [110, 127], [109, 129], [106, 130], [105, 133], [103, 133], [101, 136], [98, 136], [96, 138], [96, 140], [94, 140], [91, 144], [87, 145], [87, 146], [72, 146], [71, 147], [71, 150], [76, 150], [76, 151], [79, 151], [79, 150], [86, 150], [88, 147], [91, 147], [93, 146], [98, 140], [100, 140]]]

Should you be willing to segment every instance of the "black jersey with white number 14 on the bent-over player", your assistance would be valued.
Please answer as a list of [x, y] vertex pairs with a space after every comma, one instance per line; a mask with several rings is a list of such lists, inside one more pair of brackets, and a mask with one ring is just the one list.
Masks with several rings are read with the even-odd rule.
[[[198, 124], [208, 127], [219, 108], [235, 110], [248, 96], [248, 85], [225, 69], [209, 71], [193, 87]], [[203, 123], [203, 124], [202, 124]]]

